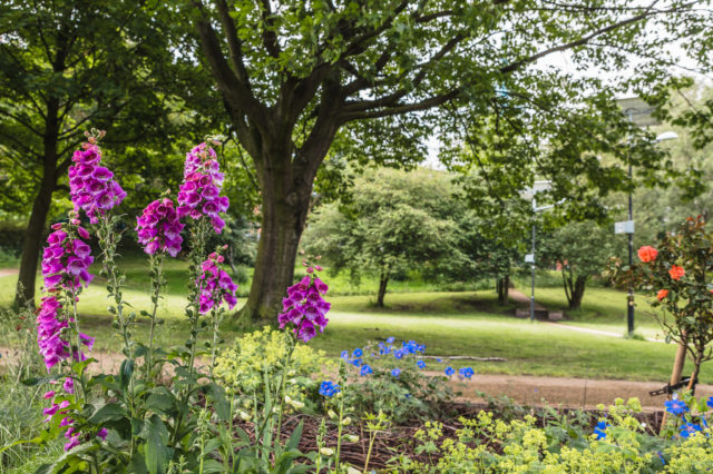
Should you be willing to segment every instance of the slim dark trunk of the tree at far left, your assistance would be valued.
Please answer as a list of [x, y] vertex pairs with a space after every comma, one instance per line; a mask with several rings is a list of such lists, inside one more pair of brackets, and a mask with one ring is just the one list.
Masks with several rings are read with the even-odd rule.
[[57, 187], [58, 110], [58, 100], [50, 99], [47, 107], [47, 121], [45, 124], [42, 182], [35, 197], [30, 220], [25, 231], [22, 258], [20, 259], [20, 275], [18, 277], [17, 293], [14, 294], [14, 304], [17, 306], [29, 305], [35, 307], [37, 264], [42, 248], [42, 234], [45, 233], [47, 215], [52, 204], [52, 192], [55, 192], [55, 188]]

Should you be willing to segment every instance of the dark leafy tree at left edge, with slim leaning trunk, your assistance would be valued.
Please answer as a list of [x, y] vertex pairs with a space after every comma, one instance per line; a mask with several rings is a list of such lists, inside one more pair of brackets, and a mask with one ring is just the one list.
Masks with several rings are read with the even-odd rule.
[[[16, 298], [23, 304], [33, 300], [52, 197], [67, 191], [62, 180], [84, 131], [107, 129], [113, 151], [141, 140], [165, 145], [182, 125], [172, 121], [183, 102], [170, 91], [201, 75], [183, 68], [189, 61], [172, 50], [170, 22], [144, 2], [11, 0], [0, 7], [0, 196], [3, 209], [29, 211]], [[189, 88], [197, 101], [202, 88], [209, 92], [205, 83]], [[199, 117], [183, 119], [201, 129]], [[127, 157], [145, 154], [134, 148]]]

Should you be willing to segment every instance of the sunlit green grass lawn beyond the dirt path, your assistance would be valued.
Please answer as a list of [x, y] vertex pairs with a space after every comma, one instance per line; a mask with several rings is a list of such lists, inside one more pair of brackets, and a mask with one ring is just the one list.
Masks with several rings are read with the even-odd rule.
[[[146, 267], [131, 260], [125, 268], [129, 282], [126, 299], [137, 310], [148, 309]], [[158, 338], [170, 345], [182, 343], [187, 335], [187, 324], [182, 316], [186, 304], [186, 274], [180, 263], [169, 264], [166, 270], [169, 282], [173, 282], [168, 287], [170, 293], [159, 309], [159, 317], [165, 319], [165, 324], [158, 332]], [[16, 276], [0, 277], [0, 305], [11, 302], [16, 279]], [[325, 279], [332, 284], [326, 276]], [[549, 307], [565, 306], [560, 288], [538, 288], [536, 294], [538, 300]], [[621, 315], [622, 297], [621, 292], [589, 288], [583, 309], [575, 313], [574, 320], [568, 324], [621, 334], [625, 328]], [[472, 365], [481, 373], [651, 379], [663, 383], [671, 372], [675, 352], [672, 345], [582, 334], [545, 323], [515, 319], [504, 314], [511, 306], [499, 306], [491, 290], [388, 294], [388, 307], [379, 309], [372, 306], [374, 297], [368, 295], [332, 296], [328, 299], [333, 304], [330, 325], [325, 335], [311, 344], [330, 355], [338, 355], [343, 349], [351, 350], [368, 339], [394, 336], [426, 344], [431, 355], [500, 356], [508, 359], [506, 363], [459, 364]], [[240, 304], [243, 302], [244, 298]], [[639, 332], [655, 332], [655, 322], [643, 306], [637, 312]], [[96, 347], [116, 350], [120, 342], [110, 328], [106, 293], [100, 280], [81, 295], [80, 310], [82, 329], [97, 336]], [[135, 334], [143, 339], [146, 335], [145, 325], [138, 326]], [[238, 334], [240, 330], [226, 322], [224, 335], [228, 343]], [[702, 379], [711, 378], [713, 367], [704, 367]]]

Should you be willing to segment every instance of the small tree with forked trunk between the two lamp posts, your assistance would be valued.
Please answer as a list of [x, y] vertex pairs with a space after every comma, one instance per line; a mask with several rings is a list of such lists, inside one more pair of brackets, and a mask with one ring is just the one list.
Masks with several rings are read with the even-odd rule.
[[[612, 226], [594, 221], [570, 223], [538, 239], [545, 267], [559, 267], [569, 309], [579, 309], [589, 278], [602, 275], [609, 258], [623, 253]], [[623, 244], [623, 241], [621, 241]]]

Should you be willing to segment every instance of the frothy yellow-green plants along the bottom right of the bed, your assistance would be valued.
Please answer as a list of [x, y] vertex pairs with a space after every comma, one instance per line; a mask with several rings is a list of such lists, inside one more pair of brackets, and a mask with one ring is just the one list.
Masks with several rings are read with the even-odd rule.
[[[629, 473], [682, 472], [674, 467], [680, 463], [711, 465], [713, 444], [707, 436], [701, 434], [676, 443], [654, 437], [634, 417], [639, 411], [638, 399], [617, 399], [602, 418], [608, 426], [600, 440], [576, 421], [563, 425], [546, 419], [540, 426], [529, 414], [510, 422], [496, 418], [491, 412], [480, 412], [475, 418], [461, 417], [462, 428], [455, 437], [445, 436], [441, 423], [428, 422], [414, 437], [417, 453], [427, 453], [433, 461], [407, 460], [399, 467], [438, 473]], [[699, 456], [690, 458], [696, 448]]]

